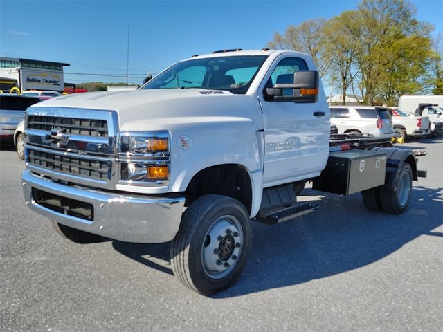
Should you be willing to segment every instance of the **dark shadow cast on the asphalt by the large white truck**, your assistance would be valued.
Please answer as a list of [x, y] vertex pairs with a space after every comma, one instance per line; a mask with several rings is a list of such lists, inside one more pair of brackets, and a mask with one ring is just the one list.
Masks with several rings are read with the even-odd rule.
[[[309, 200], [318, 192], [308, 189], [305, 194]], [[330, 277], [383, 259], [417, 237], [443, 237], [433, 231], [442, 225], [442, 202], [443, 188], [417, 186], [408, 211], [396, 216], [366, 210], [361, 194], [347, 197], [327, 194], [313, 214], [281, 225], [253, 223], [253, 248], [244, 272], [236, 284], [214, 298], [236, 297]], [[114, 241], [114, 248], [146, 266], [172, 274], [168, 243]]]

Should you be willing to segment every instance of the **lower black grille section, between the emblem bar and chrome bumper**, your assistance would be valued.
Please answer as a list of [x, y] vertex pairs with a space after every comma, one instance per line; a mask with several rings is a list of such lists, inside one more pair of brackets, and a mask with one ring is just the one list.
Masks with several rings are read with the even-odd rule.
[[88, 156], [66, 156], [47, 151], [28, 149], [28, 163], [54, 172], [82, 176], [94, 180], [107, 181], [111, 171], [111, 162], [96, 160]]

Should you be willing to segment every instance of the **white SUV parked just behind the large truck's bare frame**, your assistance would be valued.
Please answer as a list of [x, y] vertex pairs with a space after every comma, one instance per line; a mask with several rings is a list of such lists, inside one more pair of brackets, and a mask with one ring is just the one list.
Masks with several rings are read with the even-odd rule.
[[392, 118], [388, 109], [368, 106], [332, 106], [331, 123], [338, 133], [361, 135], [369, 133], [375, 137], [395, 136]]

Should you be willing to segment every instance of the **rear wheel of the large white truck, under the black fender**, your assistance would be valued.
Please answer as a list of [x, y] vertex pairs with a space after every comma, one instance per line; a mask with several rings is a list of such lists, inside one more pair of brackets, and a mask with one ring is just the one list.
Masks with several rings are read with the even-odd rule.
[[404, 163], [399, 171], [395, 183], [395, 190], [380, 190], [380, 200], [383, 211], [392, 214], [401, 214], [406, 211], [413, 188], [413, 170], [408, 163]]

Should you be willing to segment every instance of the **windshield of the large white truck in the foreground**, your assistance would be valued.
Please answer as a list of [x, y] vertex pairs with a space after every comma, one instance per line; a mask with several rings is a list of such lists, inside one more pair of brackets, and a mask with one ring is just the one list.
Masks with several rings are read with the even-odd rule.
[[215, 89], [245, 94], [267, 56], [233, 56], [179, 62], [141, 89]]

